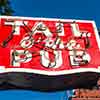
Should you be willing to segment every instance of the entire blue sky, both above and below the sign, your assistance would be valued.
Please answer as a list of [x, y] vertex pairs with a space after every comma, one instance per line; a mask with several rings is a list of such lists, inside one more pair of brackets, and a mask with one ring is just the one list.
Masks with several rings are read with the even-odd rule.
[[[10, 0], [15, 16], [95, 20], [100, 28], [100, 0]], [[66, 100], [66, 91], [0, 91], [0, 100]]]

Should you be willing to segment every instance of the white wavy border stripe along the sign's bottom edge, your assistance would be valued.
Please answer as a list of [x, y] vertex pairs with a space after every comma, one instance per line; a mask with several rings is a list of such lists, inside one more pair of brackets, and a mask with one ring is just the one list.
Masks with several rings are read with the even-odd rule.
[[82, 73], [82, 72], [95, 72], [100, 74], [100, 69], [77, 68], [77, 69], [62, 70], [62, 71], [43, 71], [43, 70], [35, 70], [35, 69], [28, 69], [28, 68], [5, 68], [3, 70], [0, 70], [0, 73], [8, 73], [8, 72], [24, 72], [24, 73], [26, 72], [26, 73], [33, 73], [33, 74], [48, 75], [48, 76], [57, 76], [57, 75], [67, 75], [67, 74], [75, 74], [75, 73]]

